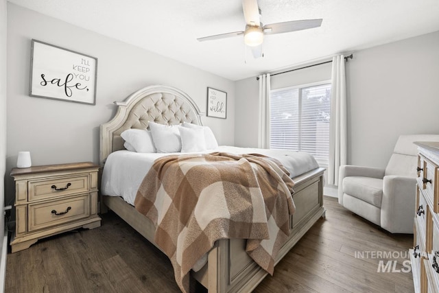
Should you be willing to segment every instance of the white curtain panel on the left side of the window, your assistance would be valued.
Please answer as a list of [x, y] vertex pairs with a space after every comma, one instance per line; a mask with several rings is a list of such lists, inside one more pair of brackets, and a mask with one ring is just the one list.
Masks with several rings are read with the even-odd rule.
[[259, 75], [258, 148], [270, 148], [270, 73]]

